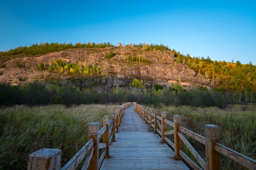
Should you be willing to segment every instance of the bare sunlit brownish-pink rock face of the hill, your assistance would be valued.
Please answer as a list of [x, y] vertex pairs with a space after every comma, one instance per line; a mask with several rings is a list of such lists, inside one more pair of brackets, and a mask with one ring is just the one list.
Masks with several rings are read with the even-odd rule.
[[[114, 52], [116, 55], [111, 59], [105, 59], [105, 54], [109, 52]], [[127, 61], [128, 55], [140, 56], [151, 63]], [[71, 63], [86, 60], [88, 64], [97, 65], [101, 73], [106, 73], [107, 77], [113, 81], [118, 81], [118, 85], [128, 85], [133, 78], [143, 79], [148, 85], [157, 83], [168, 86], [174, 82], [179, 82], [187, 88], [193, 88], [192, 84], [212, 85], [210, 79], [197, 74], [187, 65], [175, 62], [176, 58], [172, 51], [143, 51], [134, 47], [72, 49], [72, 51], [54, 52], [40, 57], [12, 59], [4, 63], [5, 68], [0, 68], [0, 83], [23, 85], [35, 79], [43, 80], [47, 77], [58, 78], [64, 82], [70, 76], [36, 70], [37, 63], [49, 65], [49, 62], [56, 59], [63, 59]], [[17, 68], [17, 62], [23, 63], [25, 68]], [[112, 85], [115, 86], [116, 83]], [[80, 83], [78, 86], [87, 87], [88, 85]]]

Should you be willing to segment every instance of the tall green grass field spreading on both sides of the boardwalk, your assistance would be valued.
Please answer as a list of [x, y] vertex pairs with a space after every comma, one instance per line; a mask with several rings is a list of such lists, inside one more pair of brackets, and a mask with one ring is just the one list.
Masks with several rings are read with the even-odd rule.
[[[205, 124], [218, 125], [221, 144], [256, 159], [256, 110], [253, 105], [247, 107], [247, 111], [241, 111], [239, 105], [226, 110], [165, 105], [157, 109], [166, 111], [171, 121], [174, 115], [180, 115], [183, 127], [202, 136]], [[117, 108], [119, 105], [100, 104], [0, 108], [0, 169], [26, 170], [28, 155], [42, 148], [61, 149], [63, 167], [88, 141], [88, 124], [100, 122], [101, 128], [103, 116]], [[205, 146], [188, 140], [204, 157]], [[184, 146], [183, 149], [190, 154]], [[240, 170], [242, 167], [222, 157], [222, 169]]]

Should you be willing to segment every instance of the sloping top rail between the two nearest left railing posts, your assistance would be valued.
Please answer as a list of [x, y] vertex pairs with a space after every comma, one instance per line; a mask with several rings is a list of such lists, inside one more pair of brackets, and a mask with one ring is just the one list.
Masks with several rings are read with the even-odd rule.
[[[93, 148], [93, 139], [90, 139], [81, 149], [78, 151], [70, 161], [61, 170], [74, 170], [82, 161], [88, 151]], [[90, 160], [91, 161], [91, 160]]]

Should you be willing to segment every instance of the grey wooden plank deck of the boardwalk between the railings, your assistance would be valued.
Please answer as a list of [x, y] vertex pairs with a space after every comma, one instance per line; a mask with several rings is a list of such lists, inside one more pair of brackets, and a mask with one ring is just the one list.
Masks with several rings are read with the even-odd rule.
[[116, 141], [110, 145], [110, 158], [101, 170], [189, 170], [183, 161], [174, 159], [174, 152], [149, 131], [149, 125], [134, 111], [125, 110]]

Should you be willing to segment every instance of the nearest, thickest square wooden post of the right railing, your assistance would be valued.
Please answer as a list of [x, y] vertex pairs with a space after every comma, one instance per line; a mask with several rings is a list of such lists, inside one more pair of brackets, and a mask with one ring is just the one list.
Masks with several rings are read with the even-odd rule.
[[219, 143], [219, 127], [216, 125], [205, 125], [205, 149], [208, 170], [220, 170], [220, 153], [214, 149], [214, 143]]

